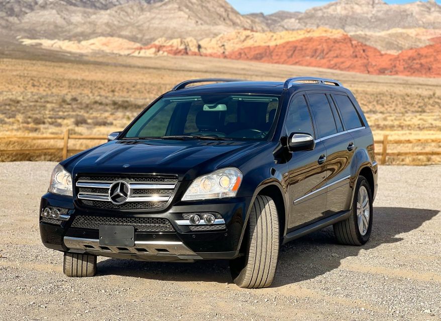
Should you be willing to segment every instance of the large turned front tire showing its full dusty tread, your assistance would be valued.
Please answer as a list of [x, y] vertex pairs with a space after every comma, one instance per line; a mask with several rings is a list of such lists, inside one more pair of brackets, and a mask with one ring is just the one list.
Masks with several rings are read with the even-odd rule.
[[256, 197], [245, 233], [245, 255], [230, 261], [233, 280], [244, 288], [268, 287], [276, 273], [280, 242], [277, 209], [270, 197]]

